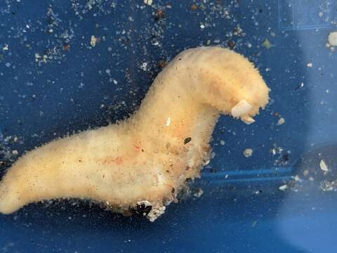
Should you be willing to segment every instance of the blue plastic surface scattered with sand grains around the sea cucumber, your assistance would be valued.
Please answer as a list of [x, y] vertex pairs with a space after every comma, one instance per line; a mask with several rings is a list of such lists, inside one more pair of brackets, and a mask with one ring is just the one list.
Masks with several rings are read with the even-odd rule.
[[191, 185], [201, 197], [154, 223], [86, 202], [29, 205], [0, 216], [0, 252], [334, 252], [336, 10], [333, 0], [1, 1], [1, 173], [13, 150], [127, 117], [160, 61], [185, 48], [234, 47], [272, 100], [250, 126], [220, 118], [215, 157]]

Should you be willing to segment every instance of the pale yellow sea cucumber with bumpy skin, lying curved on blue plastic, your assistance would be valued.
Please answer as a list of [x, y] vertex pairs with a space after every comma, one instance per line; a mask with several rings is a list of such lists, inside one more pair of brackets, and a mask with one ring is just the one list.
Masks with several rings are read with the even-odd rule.
[[250, 124], [268, 93], [258, 70], [234, 51], [183, 51], [124, 122], [51, 141], [20, 157], [1, 181], [0, 212], [74, 197], [120, 212], [140, 209], [154, 221], [177, 201], [187, 179], [199, 177], [219, 115]]

